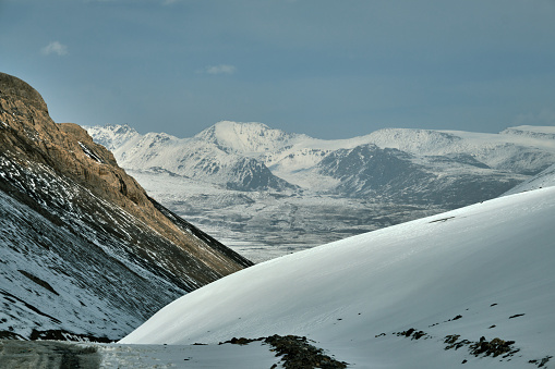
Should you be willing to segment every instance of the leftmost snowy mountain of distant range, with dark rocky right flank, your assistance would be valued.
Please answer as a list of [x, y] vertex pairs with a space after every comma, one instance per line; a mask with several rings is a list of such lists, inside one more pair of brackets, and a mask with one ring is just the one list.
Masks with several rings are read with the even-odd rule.
[[[162, 168], [172, 173], [240, 190], [287, 190], [294, 186], [275, 176], [264, 162], [238, 153], [206, 130], [192, 138], [164, 133], [140, 135], [129, 126], [89, 127], [94, 139], [112, 150], [125, 169]], [[249, 142], [249, 139], [245, 139]], [[240, 145], [241, 142], [236, 143]]]

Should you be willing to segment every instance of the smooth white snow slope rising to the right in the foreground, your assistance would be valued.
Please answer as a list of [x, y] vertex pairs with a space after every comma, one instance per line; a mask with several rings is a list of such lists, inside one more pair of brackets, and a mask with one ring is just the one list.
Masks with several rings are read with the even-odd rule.
[[[555, 355], [554, 220], [552, 187], [300, 251], [188, 294], [121, 343], [298, 334], [355, 368], [533, 367]], [[410, 328], [427, 335], [394, 334]], [[520, 352], [445, 350], [449, 334]]]

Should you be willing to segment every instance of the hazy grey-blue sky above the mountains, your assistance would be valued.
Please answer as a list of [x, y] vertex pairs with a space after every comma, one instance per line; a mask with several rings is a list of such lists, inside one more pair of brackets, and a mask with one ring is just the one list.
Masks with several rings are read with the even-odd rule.
[[555, 125], [555, 0], [0, 0], [56, 122], [317, 138]]

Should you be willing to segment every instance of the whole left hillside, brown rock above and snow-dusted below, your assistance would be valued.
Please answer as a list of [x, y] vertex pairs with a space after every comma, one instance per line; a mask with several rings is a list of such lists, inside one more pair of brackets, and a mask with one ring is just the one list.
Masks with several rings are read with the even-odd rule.
[[[121, 133], [121, 132], [120, 132]], [[149, 198], [0, 73], [0, 337], [118, 339], [252, 263]]]

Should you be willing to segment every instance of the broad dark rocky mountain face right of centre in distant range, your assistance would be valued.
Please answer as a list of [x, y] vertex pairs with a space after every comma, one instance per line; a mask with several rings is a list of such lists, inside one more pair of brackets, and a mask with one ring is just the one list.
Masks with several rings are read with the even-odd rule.
[[519, 183], [504, 173], [478, 175], [431, 171], [433, 165], [488, 167], [468, 155], [426, 157], [426, 165], [398, 149], [361, 145], [328, 153], [318, 171], [340, 181], [341, 196], [413, 205], [441, 205], [447, 209], [480, 202], [503, 194]]

